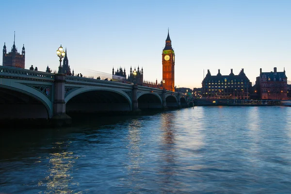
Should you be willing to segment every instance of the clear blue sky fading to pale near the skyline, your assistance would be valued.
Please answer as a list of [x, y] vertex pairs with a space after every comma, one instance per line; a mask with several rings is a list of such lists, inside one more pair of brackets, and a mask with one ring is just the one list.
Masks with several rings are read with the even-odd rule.
[[244, 68], [254, 84], [259, 68], [285, 67], [291, 79], [291, 0], [6, 0], [0, 16], [0, 44], [10, 51], [16, 31], [26, 68], [57, 69], [62, 44], [75, 73], [139, 65], [161, 81], [169, 28], [177, 87], [201, 87], [203, 69]]

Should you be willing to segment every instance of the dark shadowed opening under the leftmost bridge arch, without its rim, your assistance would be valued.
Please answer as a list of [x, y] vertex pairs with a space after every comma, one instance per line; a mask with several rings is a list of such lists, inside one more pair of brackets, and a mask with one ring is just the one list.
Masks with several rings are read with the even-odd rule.
[[49, 118], [46, 106], [22, 92], [0, 87], [0, 119]]

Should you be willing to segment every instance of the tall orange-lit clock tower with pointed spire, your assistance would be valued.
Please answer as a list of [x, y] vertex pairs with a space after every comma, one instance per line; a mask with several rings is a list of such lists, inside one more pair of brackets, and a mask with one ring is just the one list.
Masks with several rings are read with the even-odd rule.
[[172, 48], [169, 30], [165, 48], [162, 50], [162, 81], [166, 90], [175, 92], [175, 52]]

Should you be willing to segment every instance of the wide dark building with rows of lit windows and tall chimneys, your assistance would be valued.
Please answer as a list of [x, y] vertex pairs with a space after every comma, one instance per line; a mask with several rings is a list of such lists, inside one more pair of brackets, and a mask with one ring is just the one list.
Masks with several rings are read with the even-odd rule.
[[234, 75], [230, 70], [229, 75], [221, 75], [220, 69], [215, 76], [211, 76], [210, 70], [202, 81], [201, 92], [207, 98], [236, 98], [248, 99], [252, 82], [246, 77], [243, 68], [239, 75]]

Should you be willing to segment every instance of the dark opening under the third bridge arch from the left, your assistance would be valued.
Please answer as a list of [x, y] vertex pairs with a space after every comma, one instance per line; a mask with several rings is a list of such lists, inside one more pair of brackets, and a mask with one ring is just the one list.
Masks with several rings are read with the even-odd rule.
[[144, 94], [137, 99], [138, 108], [145, 109], [162, 109], [162, 102], [159, 97], [153, 94]]

